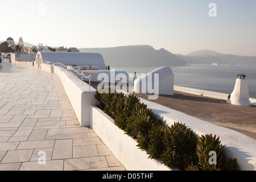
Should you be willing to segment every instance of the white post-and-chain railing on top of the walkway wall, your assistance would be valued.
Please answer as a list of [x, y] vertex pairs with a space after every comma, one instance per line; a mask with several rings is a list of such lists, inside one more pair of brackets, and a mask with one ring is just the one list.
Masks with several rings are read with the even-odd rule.
[[74, 75], [76, 73], [76, 81], [78, 81], [78, 76], [81, 75], [82, 84], [84, 83], [84, 77], [89, 78], [89, 90], [90, 90], [90, 80], [92, 80], [92, 75], [85, 76], [83, 72], [79, 73], [79, 71], [74, 69], [72, 66], [65, 65], [65, 64], [62, 64], [62, 63], [58, 63], [58, 62], [53, 63], [52, 61], [43, 61], [43, 63], [60, 66], [61, 68], [63, 68], [64, 71], [69, 71], [70, 75], [71, 75], [71, 72], [72, 72], [73, 73], [72, 77], [74, 77]]

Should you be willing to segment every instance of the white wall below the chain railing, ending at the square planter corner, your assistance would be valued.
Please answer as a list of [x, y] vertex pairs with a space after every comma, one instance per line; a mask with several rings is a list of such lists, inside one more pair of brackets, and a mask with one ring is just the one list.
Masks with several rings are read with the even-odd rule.
[[94, 98], [96, 90], [80, 79], [76, 79], [70, 72], [65, 71], [61, 67], [42, 64], [41, 69], [49, 73], [56, 73], [63, 84], [65, 92], [68, 96], [76, 117], [81, 126], [90, 125], [90, 106], [95, 105], [98, 101]]

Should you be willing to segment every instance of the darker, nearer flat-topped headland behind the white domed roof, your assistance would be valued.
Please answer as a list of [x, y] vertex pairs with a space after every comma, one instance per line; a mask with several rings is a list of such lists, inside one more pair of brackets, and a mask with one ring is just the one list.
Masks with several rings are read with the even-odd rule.
[[80, 52], [101, 53], [106, 65], [111, 67], [174, 67], [185, 61], [165, 49], [152, 46], [121, 46], [110, 48], [79, 48]]

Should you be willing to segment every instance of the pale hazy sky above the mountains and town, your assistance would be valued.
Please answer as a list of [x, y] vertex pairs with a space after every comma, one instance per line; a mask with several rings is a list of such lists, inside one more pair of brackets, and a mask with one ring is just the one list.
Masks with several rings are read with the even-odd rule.
[[[209, 16], [210, 3], [217, 16]], [[0, 40], [256, 56], [255, 0], [0, 0], [0, 6]]]

